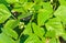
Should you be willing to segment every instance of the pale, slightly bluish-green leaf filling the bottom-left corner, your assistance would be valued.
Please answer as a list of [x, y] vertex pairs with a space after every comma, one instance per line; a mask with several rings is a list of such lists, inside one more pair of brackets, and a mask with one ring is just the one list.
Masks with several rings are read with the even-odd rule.
[[6, 35], [4, 33], [0, 34], [0, 43], [15, 43], [10, 36]]

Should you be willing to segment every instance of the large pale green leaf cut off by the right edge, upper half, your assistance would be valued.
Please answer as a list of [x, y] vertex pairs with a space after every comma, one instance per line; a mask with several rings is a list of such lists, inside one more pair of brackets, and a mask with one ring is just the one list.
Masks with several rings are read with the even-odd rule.
[[66, 7], [59, 6], [54, 12], [55, 17], [58, 17], [66, 24]]

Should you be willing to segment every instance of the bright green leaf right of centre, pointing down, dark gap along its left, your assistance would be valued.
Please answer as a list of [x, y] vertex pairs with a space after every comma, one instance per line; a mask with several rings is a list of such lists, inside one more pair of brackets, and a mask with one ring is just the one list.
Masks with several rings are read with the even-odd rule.
[[46, 22], [46, 20], [51, 17], [52, 14], [50, 13], [50, 11], [45, 10], [45, 9], [41, 9], [38, 14], [37, 14], [37, 24], [44, 25], [44, 23]]

